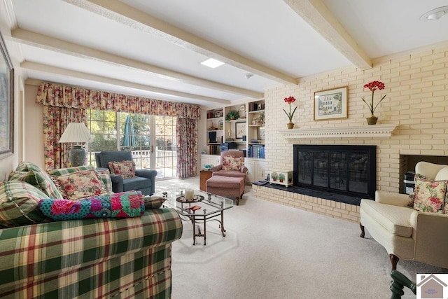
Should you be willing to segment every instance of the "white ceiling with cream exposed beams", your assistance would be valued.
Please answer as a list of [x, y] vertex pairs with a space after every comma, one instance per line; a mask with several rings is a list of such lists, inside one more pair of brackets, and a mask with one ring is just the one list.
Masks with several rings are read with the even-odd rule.
[[446, 0], [0, 1], [24, 78], [202, 106], [448, 41]]

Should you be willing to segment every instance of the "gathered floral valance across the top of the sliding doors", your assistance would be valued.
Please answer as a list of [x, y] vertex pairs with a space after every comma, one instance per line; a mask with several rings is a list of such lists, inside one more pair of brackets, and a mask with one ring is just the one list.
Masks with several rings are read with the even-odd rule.
[[42, 82], [37, 90], [36, 103], [76, 109], [97, 109], [141, 113], [153, 116], [200, 118], [200, 107], [146, 97], [134, 97], [100, 90]]

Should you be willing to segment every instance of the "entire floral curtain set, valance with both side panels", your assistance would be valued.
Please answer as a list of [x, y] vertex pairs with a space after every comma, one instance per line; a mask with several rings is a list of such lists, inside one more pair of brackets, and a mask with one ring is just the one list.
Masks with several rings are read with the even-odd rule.
[[[45, 82], [38, 86], [36, 103], [43, 104], [45, 107], [53, 107], [54, 109], [59, 108], [60, 110], [58, 111], [81, 111], [80, 113], [83, 115], [66, 118], [64, 125], [62, 125], [63, 119], [61, 119], [60, 123], [56, 125], [51, 120], [50, 114], [52, 112], [48, 111], [47, 115], [44, 112], [44, 125], [45, 121], [47, 122], [47, 127], [44, 127], [44, 153], [48, 169], [66, 167], [66, 158], [65, 160], [62, 158], [66, 148], [59, 146], [57, 142], [53, 142], [53, 139], [59, 140], [60, 132], [64, 132], [64, 126], [69, 122], [82, 120], [85, 123], [85, 109], [97, 109], [153, 116], [176, 116], [178, 175], [186, 178], [196, 176], [197, 174], [197, 120], [200, 118], [199, 106]], [[70, 120], [71, 117], [73, 117], [72, 119], [79, 117], [79, 120]], [[49, 119], [45, 120], [45, 118]], [[48, 146], [50, 139], [53, 141], [51, 146]], [[55, 162], [50, 162], [50, 160]]]

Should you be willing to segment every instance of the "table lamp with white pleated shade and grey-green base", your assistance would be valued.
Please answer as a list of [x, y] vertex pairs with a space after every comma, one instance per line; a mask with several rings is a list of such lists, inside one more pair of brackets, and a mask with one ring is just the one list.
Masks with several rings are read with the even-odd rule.
[[59, 143], [76, 143], [70, 150], [70, 162], [72, 166], [84, 165], [85, 149], [82, 147], [86, 142], [92, 142], [89, 130], [83, 123], [69, 123], [59, 139]]

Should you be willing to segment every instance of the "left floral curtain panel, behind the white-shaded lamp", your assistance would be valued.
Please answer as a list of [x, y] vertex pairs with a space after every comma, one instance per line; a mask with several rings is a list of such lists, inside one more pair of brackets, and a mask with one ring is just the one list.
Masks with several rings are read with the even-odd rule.
[[43, 154], [47, 169], [69, 167], [69, 144], [59, 144], [69, 123], [85, 123], [87, 115], [83, 109], [43, 106]]

